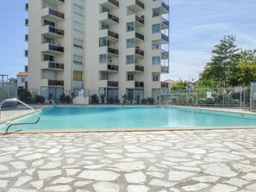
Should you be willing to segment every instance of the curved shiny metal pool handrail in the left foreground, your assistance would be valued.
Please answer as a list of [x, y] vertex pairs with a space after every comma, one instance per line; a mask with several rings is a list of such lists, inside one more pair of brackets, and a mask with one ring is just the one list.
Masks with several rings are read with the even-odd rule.
[[[40, 118], [41, 118], [41, 114], [39, 113], [38, 110], [30, 107], [28, 104], [26, 104], [25, 102], [22, 102], [21, 100], [17, 99], [17, 98], [12, 98], [12, 99], [5, 99], [3, 100], [2, 102], [0, 102], [0, 121], [1, 121], [1, 109], [2, 109], [2, 106], [3, 106], [3, 103], [4, 102], [20, 102], [22, 103], [22, 105], [26, 106], [27, 108], [30, 108], [32, 110], [34, 110], [34, 112], [36, 113], [37, 115], [37, 120], [35, 122], [28, 122], [28, 123], [11, 123], [9, 124], [9, 126], [6, 128], [5, 130], [5, 133], [4, 134], [8, 134], [8, 131], [9, 131], [9, 127], [12, 127], [12, 126], [20, 126], [20, 125], [31, 125], [31, 124], [36, 124], [38, 123], [38, 121], [40, 121]], [[54, 103], [55, 104], [55, 103]]]

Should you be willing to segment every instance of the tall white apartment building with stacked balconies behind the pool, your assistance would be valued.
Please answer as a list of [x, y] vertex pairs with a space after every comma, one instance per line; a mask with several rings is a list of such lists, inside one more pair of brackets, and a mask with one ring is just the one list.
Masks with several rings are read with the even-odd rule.
[[[41, 3], [39, 3], [41, 2]], [[168, 85], [167, 0], [28, 0], [28, 89], [121, 98], [154, 97]]]

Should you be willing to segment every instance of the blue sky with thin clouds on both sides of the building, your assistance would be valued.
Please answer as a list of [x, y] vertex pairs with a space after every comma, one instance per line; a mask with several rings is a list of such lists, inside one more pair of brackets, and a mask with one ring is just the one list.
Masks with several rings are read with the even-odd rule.
[[[0, 74], [9, 77], [16, 77], [28, 62], [26, 2], [0, 1]], [[170, 74], [162, 80], [197, 80], [223, 35], [236, 35], [240, 48], [256, 49], [256, 0], [170, 0], [170, 4]]]

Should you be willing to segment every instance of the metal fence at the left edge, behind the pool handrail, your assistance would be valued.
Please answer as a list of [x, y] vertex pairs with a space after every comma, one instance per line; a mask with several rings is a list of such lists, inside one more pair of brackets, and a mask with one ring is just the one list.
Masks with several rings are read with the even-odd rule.
[[[17, 85], [8, 82], [0, 82], [0, 102], [8, 98], [17, 97]], [[16, 106], [16, 102], [6, 102], [3, 108]]]

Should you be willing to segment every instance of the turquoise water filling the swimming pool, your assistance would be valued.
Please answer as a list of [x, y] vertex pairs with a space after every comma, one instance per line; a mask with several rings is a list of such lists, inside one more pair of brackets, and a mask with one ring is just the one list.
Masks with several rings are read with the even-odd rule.
[[[36, 115], [15, 122], [33, 122]], [[56, 107], [41, 112], [36, 125], [13, 126], [22, 129], [108, 129], [145, 127], [256, 126], [255, 115], [203, 109], [165, 107]], [[1, 129], [5, 124], [1, 125]]]

